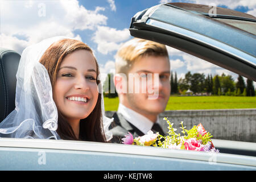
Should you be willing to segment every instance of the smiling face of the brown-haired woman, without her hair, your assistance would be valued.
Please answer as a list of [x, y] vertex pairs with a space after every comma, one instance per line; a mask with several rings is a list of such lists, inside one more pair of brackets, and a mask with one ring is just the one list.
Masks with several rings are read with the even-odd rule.
[[96, 61], [92, 53], [77, 50], [60, 64], [53, 99], [68, 122], [80, 121], [92, 113], [98, 100]]

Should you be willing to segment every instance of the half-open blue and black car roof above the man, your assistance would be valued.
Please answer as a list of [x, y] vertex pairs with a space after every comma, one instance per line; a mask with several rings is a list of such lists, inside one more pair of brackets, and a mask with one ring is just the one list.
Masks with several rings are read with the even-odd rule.
[[256, 81], [256, 18], [221, 7], [166, 3], [138, 12], [130, 34], [174, 47]]

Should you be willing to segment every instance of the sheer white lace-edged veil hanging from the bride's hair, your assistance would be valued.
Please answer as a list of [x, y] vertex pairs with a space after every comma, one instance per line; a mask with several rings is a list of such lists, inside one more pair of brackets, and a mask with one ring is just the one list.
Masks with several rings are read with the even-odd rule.
[[[57, 107], [52, 97], [52, 86], [47, 69], [40, 58], [57, 36], [29, 46], [22, 52], [16, 73], [15, 110], [0, 123], [0, 137], [60, 139], [57, 134]], [[102, 92], [101, 92], [102, 93]], [[109, 125], [112, 119], [105, 117], [102, 94], [102, 119], [106, 140], [112, 139]]]

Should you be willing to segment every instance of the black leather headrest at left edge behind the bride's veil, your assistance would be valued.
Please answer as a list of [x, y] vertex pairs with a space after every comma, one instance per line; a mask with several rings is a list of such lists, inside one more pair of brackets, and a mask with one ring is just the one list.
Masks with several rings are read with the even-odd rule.
[[0, 122], [15, 109], [16, 72], [20, 55], [0, 48]]

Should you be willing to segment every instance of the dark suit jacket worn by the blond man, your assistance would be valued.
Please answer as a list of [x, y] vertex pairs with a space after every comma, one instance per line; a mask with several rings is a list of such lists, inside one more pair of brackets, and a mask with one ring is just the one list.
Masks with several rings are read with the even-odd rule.
[[[109, 130], [113, 133], [112, 143], [122, 143], [122, 138], [130, 132], [133, 135], [133, 138], [143, 136], [141, 130], [127, 121], [121, 113], [113, 114], [114, 122], [110, 125]], [[160, 133], [161, 131], [159, 131]]]

